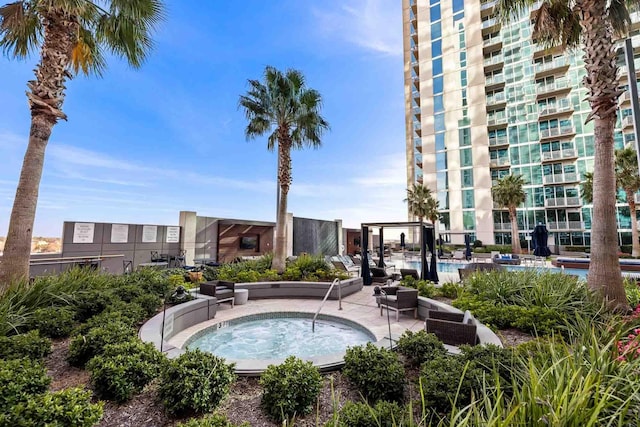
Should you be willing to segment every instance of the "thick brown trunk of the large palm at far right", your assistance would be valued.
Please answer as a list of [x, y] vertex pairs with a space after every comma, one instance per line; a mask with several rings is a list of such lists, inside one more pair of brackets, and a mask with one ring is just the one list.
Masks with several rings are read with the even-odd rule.
[[613, 130], [618, 106], [616, 53], [613, 30], [607, 23], [607, 2], [578, 0], [580, 25], [584, 43], [584, 63], [587, 71], [584, 86], [589, 91], [591, 114], [595, 119], [595, 159], [593, 165], [593, 216], [591, 228], [591, 262], [587, 284], [601, 292], [612, 308], [629, 308], [622, 285], [618, 260], [616, 225], [615, 162]]

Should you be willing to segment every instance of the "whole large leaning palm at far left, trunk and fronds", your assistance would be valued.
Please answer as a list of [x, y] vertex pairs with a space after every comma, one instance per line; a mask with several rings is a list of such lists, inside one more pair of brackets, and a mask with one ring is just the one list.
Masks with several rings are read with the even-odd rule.
[[40, 50], [35, 79], [27, 84], [31, 129], [0, 265], [0, 290], [29, 276], [45, 148], [53, 126], [67, 119], [62, 112], [66, 80], [79, 73], [101, 75], [105, 51], [140, 67], [162, 17], [161, 0], [20, 0], [0, 7], [0, 47], [5, 55], [24, 59]]

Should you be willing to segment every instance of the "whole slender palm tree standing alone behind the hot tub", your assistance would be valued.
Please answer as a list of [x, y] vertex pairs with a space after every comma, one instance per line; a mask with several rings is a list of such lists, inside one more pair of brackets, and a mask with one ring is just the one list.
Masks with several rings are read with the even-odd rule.
[[300, 71], [285, 73], [268, 66], [264, 82], [249, 80], [249, 91], [240, 96], [249, 123], [245, 129], [247, 139], [270, 133], [267, 148], [278, 146], [278, 185], [280, 197], [276, 221], [276, 244], [272, 267], [284, 272], [287, 257], [287, 195], [291, 186], [291, 150], [305, 146], [319, 148], [320, 137], [329, 124], [320, 115], [322, 97], [305, 84]]

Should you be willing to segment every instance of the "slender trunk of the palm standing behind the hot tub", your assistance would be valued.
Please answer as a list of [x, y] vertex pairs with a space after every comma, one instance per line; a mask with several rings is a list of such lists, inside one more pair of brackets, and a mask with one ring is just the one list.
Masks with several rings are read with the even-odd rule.
[[287, 261], [287, 196], [291, 186], [291, 137], [288, 130], [278, 131], [278, 157], [280, 170], [280, 204], [276, 223], [276, 247], [274, 248], [272, 268], [282, 274]]

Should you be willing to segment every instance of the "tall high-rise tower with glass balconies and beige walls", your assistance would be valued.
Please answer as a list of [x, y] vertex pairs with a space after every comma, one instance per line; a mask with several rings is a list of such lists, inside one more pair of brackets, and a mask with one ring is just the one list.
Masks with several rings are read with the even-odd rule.
[[[543, 222], [556, 245], [589, 245], [592, 206], [581, 198], [580, 183], [593, 170], [594, 137], [593, 122], [585, 124], [582, 52], [536, 44], [531, 11], [501, 24], [495, 3], [402, 0], [407, 185], [424, 184], [437, 194], [445, 240], [462, 243], [461, 233], [468, 233], [484, 244], [510, 244], [509, 213], [494, 205], [491, 187], [519, 174], [526, 182], [520, 240]], [[640, 36], [632, 41], [640, 46]], [[634, 50], [638, 71], [640, 50]], [[620, 52], [620, 86], [627, 90], [616, 148], [635, 147]], [[620, 244], [631, 244], [626, 203], [617, 204], [617, 220]]]

